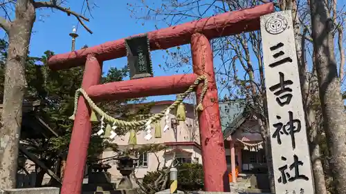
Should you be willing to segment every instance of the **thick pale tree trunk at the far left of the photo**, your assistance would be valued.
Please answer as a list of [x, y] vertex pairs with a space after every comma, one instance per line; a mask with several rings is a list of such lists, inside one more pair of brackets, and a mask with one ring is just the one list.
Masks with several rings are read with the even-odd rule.
[[0, 129], [0, 188], [16, 186], [21, 108], [26, 90], [25, 64], [34, 21], [35, 8], [30, 1], [17, 1], [16, 19], [12, 21], [8, 32]]

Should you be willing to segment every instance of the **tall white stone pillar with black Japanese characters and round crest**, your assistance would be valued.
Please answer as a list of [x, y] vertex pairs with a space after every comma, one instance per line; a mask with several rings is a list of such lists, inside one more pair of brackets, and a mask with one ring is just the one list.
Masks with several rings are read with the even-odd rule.
[[311, 160], [291, 10], [260, 18], [276, 193], [310, 194]]

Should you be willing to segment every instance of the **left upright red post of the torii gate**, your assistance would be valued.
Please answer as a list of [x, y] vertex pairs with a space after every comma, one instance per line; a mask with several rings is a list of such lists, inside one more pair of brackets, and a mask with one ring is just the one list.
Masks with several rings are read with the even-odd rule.
[[[102, 64], [89, 55], [86, 59], [85, 70], [82, 80], [84, 90], [100, 83]], [[84, 167], [86, 155], [91, 137], [91, 110], [83, 97], [78, 99], [78, 108], [73, 123], [69, 155], [67, 157], [64, 179], [62, 180], [61, 194], [82, 193]]]

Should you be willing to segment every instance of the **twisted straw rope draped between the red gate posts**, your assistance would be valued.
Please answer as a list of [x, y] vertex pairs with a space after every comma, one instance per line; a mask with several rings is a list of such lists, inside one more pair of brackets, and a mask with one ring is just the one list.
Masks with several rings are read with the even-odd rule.
[[180, 95], [179, 98], [176, 99], [176, 101], [174, 101], [174, 103], [171, 104], [168, 108], [166, 108], [165, 110], [162, 110], [161, 113], [157, 113], [155, 115], [152, 115], [152, 117], [149, 117], [149, 119], [143, 119], [143, 120], [133, 121], [133, 122], [126, 122], [126, 121], [122, 121], [120, 119], [113, 118], [110, 115], [107, 115], [107, 113], [104, 113], [103, 110], [101, 110], [91, 100], [91, 98], [86, 94], [85, 90], [83, 90], [82, 88], [79, 88], [78, 90], [75, 91], [75, 106], [74, 106], [74, 110], [73, 110], [73, 115], [75, 115], [75, 113], [77, 112], [78, 98], [80, 97], [80, 95], [82, 95], [84, 97], [84, 99], [86, 99], [86, 101], [89, 103], [89, 106], [96, 113], [98, 113], [101, 117], [106, 119], [108, 122], [111, 122], [111, 123], [115, 124], [116, 126], [125, 126], [125, 127], [144, 126], [148, 121], [156, 122], [158, 119], [161, 119], [161, 117], [163, 117], [165, 115], [165, 112], [167, 111], [167, 109], [172, 110], [173, 108], [176, 108], [176, 106], [181, 104], [183, 99], [185, 99], [185, 97], [187, 97], [188, 94], [190, 94], [194, 90], [194, 88], [196, 88], [199, 85], [199, 83], [201, 81], [203, 81], [203, 88], [202, 88], [201, 96], [199, 97], [199, 103], [197, 106], [197, 110], [203, 110], [202, 101], [203, 101], [203, 97], [204, 97], [204, 95], [206, 95], [206, 92], [208, 89], [208, 79], [206, 78], [205, 75], [201, 75], [200, 77], [198, 77], [196, 79], [196, 81], [194, 81], [194, 84], [192, 84], [188, 88], [188, 90], [185, 91], [185, 93]]

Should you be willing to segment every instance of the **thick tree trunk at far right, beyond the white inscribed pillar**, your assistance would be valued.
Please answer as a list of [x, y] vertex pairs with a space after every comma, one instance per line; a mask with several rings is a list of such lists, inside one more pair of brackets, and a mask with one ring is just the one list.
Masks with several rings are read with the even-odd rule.
[[322, 0], [311, 0], [311, 24], [313, 52], [315, 55], [318, 88], [322, 108], [323, 126], [331, 157], [331, 173], [334, 178], [334, 193], [346, 193], [346, 133], [340, 79], [334, 55], [333, 21]]

